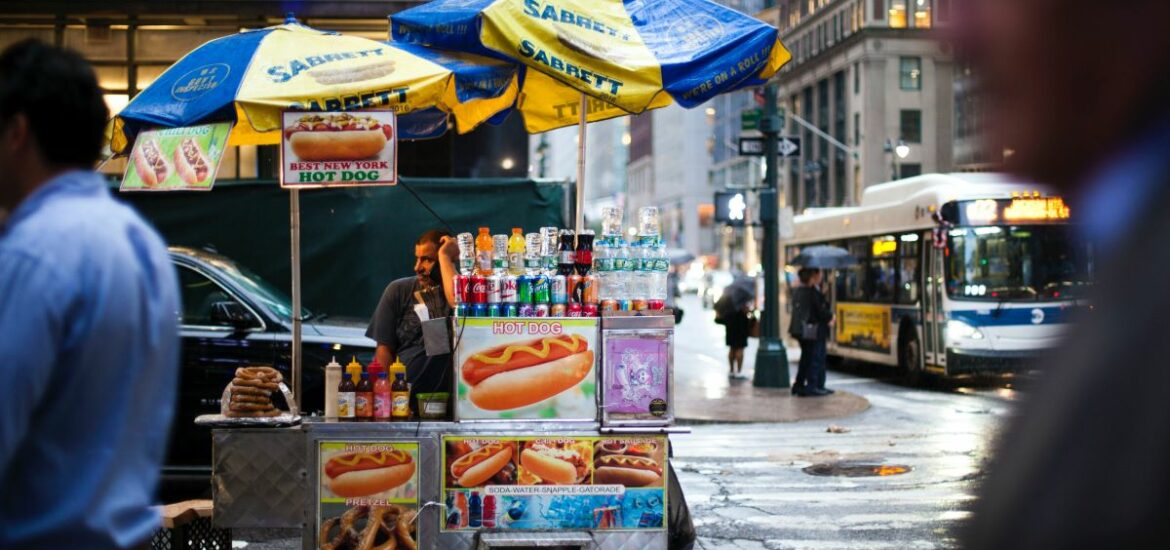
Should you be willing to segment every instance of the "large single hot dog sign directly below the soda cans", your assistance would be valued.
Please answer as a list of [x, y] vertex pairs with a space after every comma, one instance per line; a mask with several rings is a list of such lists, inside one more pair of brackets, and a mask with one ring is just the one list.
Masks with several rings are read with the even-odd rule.
[[594, 420], [597, 318], [460, 318], [460, 420]]

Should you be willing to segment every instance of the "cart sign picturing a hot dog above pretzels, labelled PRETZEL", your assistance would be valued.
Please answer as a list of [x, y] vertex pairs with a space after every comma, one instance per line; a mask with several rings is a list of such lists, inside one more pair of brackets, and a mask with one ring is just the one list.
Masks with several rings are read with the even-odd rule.
[[350, 531], [377, 541], [392, 536], [398, 548], [418, 543], [418, 522], [411, 521], [419, 511], [418, 442], [321, 441], [317, 459], [317, 539], [323, 545], [346, 539]]

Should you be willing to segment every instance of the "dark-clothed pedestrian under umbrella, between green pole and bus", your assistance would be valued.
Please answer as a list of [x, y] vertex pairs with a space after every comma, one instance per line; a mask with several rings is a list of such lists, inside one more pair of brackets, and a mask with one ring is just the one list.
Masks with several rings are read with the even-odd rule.
[[820, 269], [801, 268], [797, 273], [800, 286], [792, 293], [792, 318], [789, 334], [800, 342], [800, 364], [792, 381], [792, 394], [821, 397], [833, 393], [825, 387], [825, 344], [833, 311], [828, 298], [820, 291], [824, 277]]

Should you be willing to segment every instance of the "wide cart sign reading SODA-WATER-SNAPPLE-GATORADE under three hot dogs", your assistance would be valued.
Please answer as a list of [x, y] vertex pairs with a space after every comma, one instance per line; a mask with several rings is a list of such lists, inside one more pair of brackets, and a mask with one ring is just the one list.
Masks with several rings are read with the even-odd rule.
[[443, 531], [661, 530], [665, 436], [450, 436]]

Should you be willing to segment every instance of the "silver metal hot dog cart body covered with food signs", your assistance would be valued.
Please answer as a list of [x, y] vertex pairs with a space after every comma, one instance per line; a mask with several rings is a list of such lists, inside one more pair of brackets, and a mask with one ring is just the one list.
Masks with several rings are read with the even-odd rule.
[[[683, 431], [673, 427], [674, 318], [641, 314], [652, 311], [452, 319], [456, 371], [477, 350], [534, 335], [578, 341], [592, 355], [580, 383], [534, 406], [491, 410], [456, 378], [454, 421], [304, 417], [214, 429], [213, 521], [298, 528], [305, 549], [384, 548], [395, 522], [413, 523], [418, 548], [666, 548], [669, 510], [684, 506], [672, 502], [682, 496], [668, 466], [669, 434]], [[402, 476], [366, 490], [342, 486], [338, 456], [398, 463]], [[374, 511], [385, 509], [395, 511]]]

